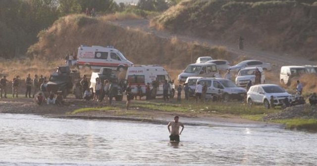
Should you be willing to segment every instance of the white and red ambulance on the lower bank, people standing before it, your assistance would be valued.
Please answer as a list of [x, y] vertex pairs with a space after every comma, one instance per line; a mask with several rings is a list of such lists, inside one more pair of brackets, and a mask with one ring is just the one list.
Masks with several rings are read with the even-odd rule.
[[142, 88], [142, 93], [145, 95], [146, 86], [150, 83], [150, 88], [153, 88], [152, 82], [159, 82], [159, 89], [157, 91], [157, 96], [163, 95], [163, 83], [165, 80], [169, 83], [171, 91], [168, 92], [170, 97], [174, 97], [175, 85], [174, 81], [169, 78], [166, 70], [159, 65], [133, 65], [128, 68], [126, 75], [127, 83], [131, 83], [132, 93], [137, 93], [137, 86], [140, 85]]

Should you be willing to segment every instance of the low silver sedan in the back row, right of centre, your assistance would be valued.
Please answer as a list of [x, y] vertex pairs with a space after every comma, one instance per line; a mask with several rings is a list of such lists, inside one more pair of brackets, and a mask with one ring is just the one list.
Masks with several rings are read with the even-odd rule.
[[234, 66], [229, 67], [230, 70], [238, 72], [239, 70], [246, 67], [262, 67], [263, 70], [271, 70], [271, 64], [265, 63], [258, 60], [245, 60]]

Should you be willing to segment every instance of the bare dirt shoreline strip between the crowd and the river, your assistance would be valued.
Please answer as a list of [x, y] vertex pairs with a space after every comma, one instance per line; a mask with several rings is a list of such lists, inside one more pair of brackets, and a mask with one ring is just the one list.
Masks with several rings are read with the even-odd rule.
[[125, 102], [114, 102], [113, 110], [109, 111], [89, 111], [78, 114], [71, 114], [74, 110], [81, 108], [101, 108], [104, 103], [93, 101], [81, 101], [77, 99], [67, 99], [66, 105], [59, 107], [56, 105], [38, 106], [30, 98], [0, 99], [0, 113], [7, 114], [33, 114], [45, 118], [64, 119], [85, 119], [85, 120], [115, 120], [133, 121], [153, 124], [167, 124], [172, 121], [175, 115], [180, 116], [181, 121], [187, 125], [200, 126], [235, 126], [235, 127], [283, 127], [281, 124], [251, 121], [233, 115], [206, 115], [181, 112], [165, 112], [159, 110], [143, 109], [132, 107], [125, 110]]

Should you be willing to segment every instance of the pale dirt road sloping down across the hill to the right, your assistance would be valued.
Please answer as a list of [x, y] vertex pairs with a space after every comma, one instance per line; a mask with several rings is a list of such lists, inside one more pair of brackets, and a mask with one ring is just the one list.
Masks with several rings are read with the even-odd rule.
[[[145, 31], [151, 34], [154, 34], [160, 38], [172, 38], [177, 37], [177, 39], [184, 42], [199, 42], [205, 43], [210, 46], [225, 46], [226, 49], [231, 52], [235, 57], [238, 56], [246, 56], [248, 59], [257, 59], [267, 63], [272, 64], [272, 69], [274, 71], [278, 71], [281, 66], [285, 65], [316, 65], [317, 62], [310, 61], [308, 59], [304, 59], [302, 57], [295, 57], [283, 52], [272, 52], [260, 50], [257, 48], [253, 48], [251, 45], [245, 45], [245, 50], [238, 49], [238, 43], [225, 43], [223, 41], [214, 41], [210, 39], [203, 39], [189, 35], [183, 34], [174, 34], [168, 31], [158, 31], [155, 28], [151, 28], [149, 26], [150, 21], [147, 19], [134, 19], [134, 20], [117, 20], [111, 22], [114, 25], [124, 27], [124, 28], [132, 28], [138, 29], [141, 31]], [[237, 40], [238, 41], [238, 40]]]

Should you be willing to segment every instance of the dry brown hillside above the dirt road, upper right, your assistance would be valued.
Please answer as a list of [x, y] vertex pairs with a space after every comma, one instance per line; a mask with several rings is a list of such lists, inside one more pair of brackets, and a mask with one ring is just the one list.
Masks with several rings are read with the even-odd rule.
[[316, 4], [290, 0], [183, 0], [151, 24], [158, 29], [234, 44], [242, 36], [246, 48], [316, 60]]

